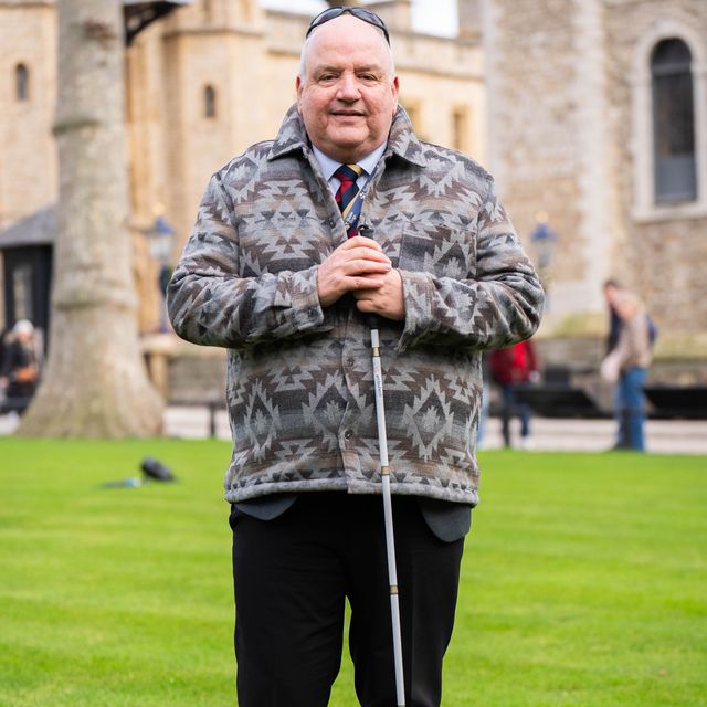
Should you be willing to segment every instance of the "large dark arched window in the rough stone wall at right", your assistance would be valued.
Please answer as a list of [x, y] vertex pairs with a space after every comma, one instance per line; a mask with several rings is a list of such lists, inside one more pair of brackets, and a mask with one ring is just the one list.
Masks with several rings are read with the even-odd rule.
[[658, 42], [651, 54], [656, 203], [697, 199], [690, 64], [689, 48], [678, 39]]

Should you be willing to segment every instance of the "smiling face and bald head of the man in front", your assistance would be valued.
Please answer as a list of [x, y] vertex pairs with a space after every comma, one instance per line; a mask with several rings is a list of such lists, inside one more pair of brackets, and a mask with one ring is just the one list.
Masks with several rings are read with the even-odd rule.
[[297, 104], [309, 139], [333, 159], [356, 162], [382, 145], [398, 108], [383, 36], [350, 14], [317, 28]]

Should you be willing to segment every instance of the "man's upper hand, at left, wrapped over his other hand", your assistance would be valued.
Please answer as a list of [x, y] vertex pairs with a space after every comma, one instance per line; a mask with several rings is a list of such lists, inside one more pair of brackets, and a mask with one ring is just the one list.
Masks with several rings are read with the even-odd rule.
[[[390, 258], [383, 254], [376, 241], [356, 235], [339, 245], [319, 265], [319, 303], [323, 307], [328, 307], [347, 292], [374, 292], [384, 286], [386, 277], [392, 272], [391, 267]], [[400, 279], [397, 273], [395, 276]]]

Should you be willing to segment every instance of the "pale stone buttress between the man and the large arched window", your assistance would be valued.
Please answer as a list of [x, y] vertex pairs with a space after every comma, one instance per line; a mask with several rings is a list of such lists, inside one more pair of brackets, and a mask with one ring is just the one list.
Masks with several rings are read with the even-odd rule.
[[558, 288], [588, 268], [573, 2], [493, 0], [484, 12], [490, 169], [531, 252], [536, 214], [547, 213], [558, 240], [546, 285], [550, 307], [564, 312], [571, 303]]

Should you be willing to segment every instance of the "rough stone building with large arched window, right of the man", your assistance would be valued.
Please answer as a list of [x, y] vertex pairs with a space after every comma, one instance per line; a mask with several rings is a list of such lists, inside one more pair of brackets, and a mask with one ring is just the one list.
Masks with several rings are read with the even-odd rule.
[[556, 234], [544, 331], [599, 334], [615, 277], [646, 299], [663, 357], [704, 358], [707, 3], [483, 6], [488, 161], [518, 231], [544, 212]]

